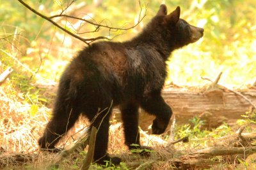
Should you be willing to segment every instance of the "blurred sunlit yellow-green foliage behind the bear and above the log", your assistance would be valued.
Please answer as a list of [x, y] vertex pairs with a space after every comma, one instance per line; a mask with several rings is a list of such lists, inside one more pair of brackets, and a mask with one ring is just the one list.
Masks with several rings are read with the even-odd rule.
[[[29, 1], [29, 5], [44, 15], [56, 15], [70, 1]], [[168, 6], [168, 12], [181, 8], [181, 18], [190, 24], [204, 27], [204, 38], [193, 45], [172, 53], [168, 61], [169, 76], [166, 84], [196, 86], [209, 83], [202, 77], [214, 80], [222, 71], [220, 84], [244, 87], [256, 79], [256, 1], [246, 0], [172, 0], [140, 1], [141, 15], [146, 17], [134, 29], [81, 34], [84, 38], [108, 36], [113, 41], [125, 41], [136, 36], [148, 20], [156, 15], [161, 3]], [[91, 19], [113, 27], [131, 27], [138, 22], [140, 13], [138, 0], [129, 1], [76, 1], [67, 10], [69, 15]], [[32, 71], [48, 80], [58, 81], [66, 64], [76, 52], [86, 46], [71, 38], [49, 22], [26, 10], [19, 2], [3, 1], [0, 4], [1, 39], [0, 46], [5, 52], [17, 57]], [[56, 18], [56, 22], [72, 32], [93, 31], [95, 27], [77, 20]], [[7, 41], [7, 43], [6, 43]], [[9, 60], [1, 52], [1, 60]], [[8, 61], [10, 62], [10, 61]], [[26, 73], [28, 71], [24, 70]], [[24, 74], [26, 74], [24, 73]], [[29, 75], [29, 73], [28, 73]]]

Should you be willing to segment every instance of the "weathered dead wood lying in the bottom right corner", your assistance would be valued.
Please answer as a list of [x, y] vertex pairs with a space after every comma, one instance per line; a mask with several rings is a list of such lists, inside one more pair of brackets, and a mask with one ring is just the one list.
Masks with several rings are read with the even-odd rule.
[[[188, 155], [183, 155], [180, 160], [173, 164], [176, 166], [182, 166], [182, 168], [206, 168], [211, 167], [214, 164], [218, 164], [218, 161], [212, 160], [217, 156], [228, 155], [235, 160], [237, 156], [243, 155], [244, 158], [252, 153], [256, 153], [256, 146], [252, 146], [252, 141], [256, 139], [256, 133], [242, 133], [245, 127], [240, 127], [236, 133], [218, 138], [219, 143], [215, 147], [209, 147], [202, 150], [198, 150]], [[234, 156], [233, 156], [234, 155]], [[235, 156], [236, 155], [236, 156]]]

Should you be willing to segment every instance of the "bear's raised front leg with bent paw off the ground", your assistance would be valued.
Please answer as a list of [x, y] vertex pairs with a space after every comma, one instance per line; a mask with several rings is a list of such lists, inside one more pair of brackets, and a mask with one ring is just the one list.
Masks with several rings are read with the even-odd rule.
[[156, 118], [152, 124], [153, 134], [162, 134], [172, 117], [172, 109], [164, 102], [161, 92], [154, 92], [145, 95], [141, 100], [141, 108]]

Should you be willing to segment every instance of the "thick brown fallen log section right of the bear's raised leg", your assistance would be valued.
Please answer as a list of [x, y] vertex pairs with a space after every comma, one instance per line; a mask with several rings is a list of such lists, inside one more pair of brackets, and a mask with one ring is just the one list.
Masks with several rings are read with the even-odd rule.
[[[256, 90], [240, 92], [252, 103], [256, 103]], [[179, 124], [188, 123], [190, 118], [201, 117], [209, 127], [217, 127], [223, 122], [233, 125], [242, 119], [246, 111], [252, 111], [252, 104], [229, 90], [211, 90], [209, 94], [196, 90], [175, 88], [165, 89], [162, 94], [173, 110]]]

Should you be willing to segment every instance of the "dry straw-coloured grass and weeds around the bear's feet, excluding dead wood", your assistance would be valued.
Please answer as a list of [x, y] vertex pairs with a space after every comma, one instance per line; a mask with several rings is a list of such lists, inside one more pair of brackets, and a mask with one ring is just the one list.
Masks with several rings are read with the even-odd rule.
[[[86, 156], [86, 150], [79, 154], [74, 153], [70, 155], [70, 157], [63, 160], [58, 167], [51, 166], [56, 157], [55, 154], [42, 153], [38, 150], [37, 140], [44, 131], [44, 127], [49, 120], [51, 109], [45, 107], [44, 104], [38, 104], [36, 105], [38, 106], [38, 108], [36, 108], [36, 113], [33, 113], [33, 111], [31, 112], [33, 106], [33, 103], [24, 101], [21, 92], [18, 89], [15, 89], [15, 86], [12, 85], [12, 81], [6, 81], [1, 85], [0, 111], [2, 116], [0, 124], [0, 160], [2, 162], [4, 160], [6, 161], [7, 166], [4, 168], [79, 169]], [[252, 123], [252, 121], [255, 121], [255, 115], [246, 113], [244, 117], [250, 118], [247, 122], [239, 122], [240, 124], [249, 124]], [[234, 132], [234, 129], [225, 124], [216, 129], [205, 130], [202, 129], [204, 123], [205, 122], [200, 120], [200, 118], [194, 117], [190, 120], [190, 124], [177, 125], [175, 139], [189, 136], [189, 143], [177, 143], [175, 146], [168, 147], [166, 144], [168, 143], [170, 131], [165, 132], [161, 136], [155, 136], [149, 135], [147, 132], [141, 130], [142, 145], [154, 148], [154, 152], [150, 153], [150, 157], [144, 158], [131, 154], [131, 152], [127, 150], [127, 146], [124, 145], [122, 124], [113, 118], [109, 129], [109, 153], [119, 155], [124, 162], [122, 162], [121, 166], [113, 166], [111, 165], [111, 162], [106, 162], [106, 166], [93, 164], [90, 169], [129, 169], [131, 167], [138, 167], [138, 162], [140, 162], [140, 167], [142, 169], [143, 166], [148, 167], [148, 164], [150, 164], [152, 169], [170, 169], [172, 168], [173, 160], [179, 159], [180, 155], [186, 155], [200, 148], [214, 146], [218, 143], [216, 140], [217, 138]], [[61, 140], [60, 147], [70, 145], [70, 143], [79, 136], [81, 129], [86, 126], [88, 126], [86, 119], [79, 118], [76, 127], [68, 132], [67, 136]], [[250, 131], [253, 131], [253, 129]], [[33, 157], [33, 162], [15, 164], [15, 161], [12, 162], [12, 160], [6, 160], [6, 157], [10, 157], [16, 153], [30, 155], [30, 157]], [[24, 157], [26, 157], [26, 155], [24, 155]], [[246, 163], [244, 159], [239, 159], [237, 162], [228, 162], [227, 157], [216, 157], [215, 160], [216, 159], [218, 159], [217, 162], [219, 162], [219, 164], [213, 166], [213, 169], [235, 168], [237, 167], [237, 164], [248, 166], [248, 163]]]

